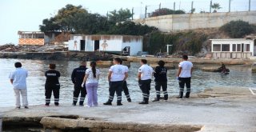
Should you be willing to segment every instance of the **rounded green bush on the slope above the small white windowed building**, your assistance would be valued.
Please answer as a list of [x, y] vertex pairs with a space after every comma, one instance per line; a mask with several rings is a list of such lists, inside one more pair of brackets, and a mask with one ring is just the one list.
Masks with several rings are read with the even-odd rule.
[[246, 34], [251, 34], [254, 31], [254, 27], [249, 22], [238, 20], [226, 23], [220, 27], [220, 30], [228, 34], [230, 38], [242, 38]]

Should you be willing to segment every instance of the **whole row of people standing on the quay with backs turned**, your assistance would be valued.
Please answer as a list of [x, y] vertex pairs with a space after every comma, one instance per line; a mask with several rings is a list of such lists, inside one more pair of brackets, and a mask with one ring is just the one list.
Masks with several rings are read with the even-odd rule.
[[[190, 80], [193, 69], [192, 62], [187, 61], [187, 55], [182, 56], [183, 61], [178, 64], [177, 79], [180, 87], [178, 98], [183, 98], [184, 86], [186, 85], [185, 98], [190, 98]], [[131, 102], [129, 90], [127, 87], [126, 78], [128, 78], [128, 67], [122, 65], [121, 58], [114, 58], [114, 66], [110, 66], [107, 79], [109, 81], [109, 98], [103, 105], [112, 105], [114, 94], [117, 94], [117, 106], [122, 106], [122, 91], [125, 92], [128, 102]], [[22, 64], [16, 62], [14, 64], [16, 70], [10, 73], [10, 82], [14, 86], [14, 94], [16, 96], [16, 107], [20, 109], [20, 94], [22, 95], [23, 106], [27, 109], [27, 91], [26, 91], [26, 77], [27, 70], [22, 69]], [[45, 96], [46, 106], [50, 105], [51, 94], [54, 93], [54, 105], [58, 106], [60, 84], [58, 78], [61, 74], [55, 70], [56, 65], [50, 64], [50, 70], [45, 73]], [[168, 99], [167, 93], [167, 69], [165, 62], [162, 60], [158, 62], [158, 66], [153, 70], [147, 64], [146, 59], [141, 60], [141, 66], [138, 69], [138, 86], [142, 90], [142, 102], [139, 104], [148, 104], [150, 98], [150, 83], [154, 75], [156, 98], [153, 102], [160, 100], [160, 90], [164, 94], [164, 100]], [[74, 83], [73, 106], [77, 105], [80, 94], [79, 106], [84, 106], [84, 100], [88, 98], [86, 106], [98, 106], [98, 81], [100, 70], [96, 68], [96, 62], [90, 62], [90, 68], [86, 67], [86, 62], [82, 62], [78, 68], [75, 68], [71, 74], [71, 80]]]

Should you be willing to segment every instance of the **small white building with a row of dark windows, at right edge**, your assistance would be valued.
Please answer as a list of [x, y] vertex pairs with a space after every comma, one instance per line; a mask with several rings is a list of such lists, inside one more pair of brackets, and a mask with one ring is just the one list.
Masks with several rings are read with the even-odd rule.
[[213, 58], [250, 58], [256, 56], [254, 38], [210, 39]]

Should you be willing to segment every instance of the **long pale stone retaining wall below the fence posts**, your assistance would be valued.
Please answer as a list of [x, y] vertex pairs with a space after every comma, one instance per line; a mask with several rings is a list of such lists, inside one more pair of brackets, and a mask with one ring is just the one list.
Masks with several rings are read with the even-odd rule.
[[155, 26], [162, 32], [178, 30], [194, 30], [200, 28], [216, 28], [227, 22], [242, 20], [250, 24], [256, 23], [256, 11], [239, 11], [204, 14], [174, 14], [152, 18], [137, 19], [134, 22]]

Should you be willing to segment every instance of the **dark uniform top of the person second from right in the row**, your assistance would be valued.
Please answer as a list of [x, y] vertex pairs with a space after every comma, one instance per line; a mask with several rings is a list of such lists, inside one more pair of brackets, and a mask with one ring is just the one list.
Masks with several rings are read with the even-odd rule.
[[167, 82], [167, 69], [166, 67], [157, 66], [154, 70], [155, 82]]

